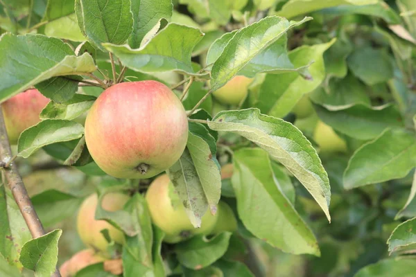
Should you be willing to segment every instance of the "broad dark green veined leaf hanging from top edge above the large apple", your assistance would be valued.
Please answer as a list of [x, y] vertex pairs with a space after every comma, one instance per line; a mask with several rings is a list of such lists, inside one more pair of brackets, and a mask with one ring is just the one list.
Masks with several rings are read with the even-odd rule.
[[123, 44], [133, 30], [130, 0], [76, 0], [75, 12], [81, 31], [101, 50], [104, 42]]

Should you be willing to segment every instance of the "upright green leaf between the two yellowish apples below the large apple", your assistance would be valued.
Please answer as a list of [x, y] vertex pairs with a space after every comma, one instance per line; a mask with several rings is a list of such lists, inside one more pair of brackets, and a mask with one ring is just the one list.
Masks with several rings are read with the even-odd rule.
[[135, 219], [137, 235], [126, 237], [123, 247], [123, 274], [125, 276], [153, 276], [153, 230], [146, 199], [139, 193], [125, 205]]

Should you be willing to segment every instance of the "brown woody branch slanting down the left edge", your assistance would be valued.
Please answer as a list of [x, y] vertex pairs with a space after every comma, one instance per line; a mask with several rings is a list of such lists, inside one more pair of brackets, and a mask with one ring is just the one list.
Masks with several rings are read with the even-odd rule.
[[[12, 150], [8, 141], [8, 135], [6, 132], [6, 125], [4, 124], [3, 111], [0, 106], [0, 161], [3, 164], [9, 163], [12, 159]], [[45, 230], [40, 222], [39, 217], [33, 207], [31, 198], [24, 187], [19, 171], [17, 170], [16, 163], [10, 163], [8, 168], [3, 168], [4, 176], [8, 182], [8, 186], [12, 191], [13, 198], [19, 206], [21, 215], [23, 215], [24, 221], [28, 226], [29, 231], [33, 238], [39, 238], [45, 234]], [[52, 274], [54, 277], [60, 277], [58, 268]]]

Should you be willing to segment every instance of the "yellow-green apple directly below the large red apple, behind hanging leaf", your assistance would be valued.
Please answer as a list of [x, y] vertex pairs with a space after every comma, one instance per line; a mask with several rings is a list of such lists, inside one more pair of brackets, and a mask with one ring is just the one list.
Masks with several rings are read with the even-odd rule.
[[199, 233], [209, 234], [218, 218], [218, 213], [211, 215], [207, 211], [202, 216], [201, 227], [194, 228], [168, 175], [161, 175], [150, 184], [146, 200], [153, 224], [166, 233], [164, 241], [168, 243], [180, 242]]

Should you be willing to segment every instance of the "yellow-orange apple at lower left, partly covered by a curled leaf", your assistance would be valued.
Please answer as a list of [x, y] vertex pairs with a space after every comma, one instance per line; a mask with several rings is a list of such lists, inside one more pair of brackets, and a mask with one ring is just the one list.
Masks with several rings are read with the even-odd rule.
[[[104, 196], [102, 206], [107, 211], [119, 211], [130, 197], [123, 193], [107, 193]], [[114, 242], [123, 244], [124, 234], [105, 220], [95, 220], [95, 213], [98, 204], [98, 197], [94, 193], [84, 200], [78, 211], [77, 227], [78, 235], [85, 245], [96, 251], [105, 253], [108, 242], [105, 240], [101, 230], [108, 229], [110, 237]]]

